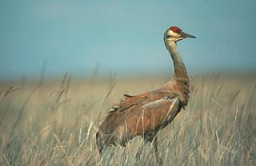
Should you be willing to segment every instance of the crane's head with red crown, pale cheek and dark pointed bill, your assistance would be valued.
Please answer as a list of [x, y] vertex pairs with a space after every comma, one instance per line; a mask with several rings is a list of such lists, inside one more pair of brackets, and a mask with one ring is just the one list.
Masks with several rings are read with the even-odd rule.
[[177, 26], [170, 26], [168, 30], [166, 30], [164, 34], [164, 39], [166, 41], [180, 41], [184, 38], [195, 38], [191, 34], [186, 34]]

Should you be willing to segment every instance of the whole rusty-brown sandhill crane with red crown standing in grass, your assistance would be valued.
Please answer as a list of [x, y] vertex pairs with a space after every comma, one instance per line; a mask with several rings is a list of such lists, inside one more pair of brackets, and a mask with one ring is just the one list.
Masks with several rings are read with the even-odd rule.
[[[177, 41], [184, 38], [195, 37], [184, 33], [177, 26], [171, 26], [164, 33], [166, 49], [174, 61], [174, 77], [170, 81], [159, 89], [141, 95], [124, 94], [122, 101], [109, 111], [96, 134], [101, 156], [102, 151], [111, 144], [125, 147], [134, 136], [142, 136], [144, 144], [153, 144], [156, 160], [162, 165], [158, 154], [157, 133], [170, 124], [181, 109], [185, 109], [190, 95], [190, 80], [176, 45]], [[138, 150], [137, 157], [141, 155], [142, 148]]]

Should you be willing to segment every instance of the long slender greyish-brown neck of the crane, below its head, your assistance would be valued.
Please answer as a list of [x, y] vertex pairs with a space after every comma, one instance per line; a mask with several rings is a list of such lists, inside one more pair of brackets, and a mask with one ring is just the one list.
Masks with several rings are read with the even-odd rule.
[[186, 73], [186, 67], [182, 61], [182, 57], [178, 53], [176, 41], [172, 41], [167, 38], [165, 38], [164, 41], [165, 41], [166, 49], [169, 51], [170, 56], [174, 61], [174, 77], [177, 77], [178, 79], [187, 80], [188, 76]]

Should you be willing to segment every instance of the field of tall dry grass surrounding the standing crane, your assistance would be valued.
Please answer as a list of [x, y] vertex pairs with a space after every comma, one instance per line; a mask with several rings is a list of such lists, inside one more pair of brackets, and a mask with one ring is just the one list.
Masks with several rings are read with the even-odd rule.
[[[192, 76], [186, 110], [158, 133], [164, 165], [256, 165], [256, 75]], [[123, 93], [157, 89], [167, 77], [93, 77], [0, 82], [0, 165], [156, 165], [141, 137], [100, 159], [98, 122]]]

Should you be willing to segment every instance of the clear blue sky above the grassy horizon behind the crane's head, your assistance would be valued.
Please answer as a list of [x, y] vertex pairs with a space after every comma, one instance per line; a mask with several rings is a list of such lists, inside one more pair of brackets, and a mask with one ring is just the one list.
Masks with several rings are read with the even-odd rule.
[[256, 1], [0, 2], [0, 77], [168, 73], [169, 26], [189, 73], [256, 71]]

